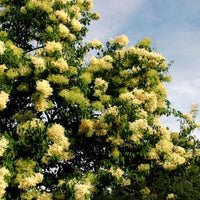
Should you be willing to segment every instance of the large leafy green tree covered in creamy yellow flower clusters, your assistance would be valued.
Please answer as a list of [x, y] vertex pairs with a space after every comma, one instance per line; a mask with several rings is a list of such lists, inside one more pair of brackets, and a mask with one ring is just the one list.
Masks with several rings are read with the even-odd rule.
[[198, 164], [197, 106], [170, 107], [151, 40], [83, 43], [92, 0], [0, 5], [0, 199], [180, 199], [169, 183]]

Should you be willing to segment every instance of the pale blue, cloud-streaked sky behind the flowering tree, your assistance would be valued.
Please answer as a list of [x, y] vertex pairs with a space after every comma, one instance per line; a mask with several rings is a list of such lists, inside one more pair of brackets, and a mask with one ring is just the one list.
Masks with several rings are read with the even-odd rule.
[[[157, 51], [174, 61], [172, 81], [166, 85], [172, 106], [182, 112], [189, 112], [192, 103], [200, 106], [199, 0], [94, 0], [93, 10], [101, 19], [90, 26], [87, 41], [97, 38], [105, 43], [125, 34], [132, 46], [150, 37]], [[178, 128], [172, 118], [163, 123]], [[195, 134], [200, 138], [200, 131]]]

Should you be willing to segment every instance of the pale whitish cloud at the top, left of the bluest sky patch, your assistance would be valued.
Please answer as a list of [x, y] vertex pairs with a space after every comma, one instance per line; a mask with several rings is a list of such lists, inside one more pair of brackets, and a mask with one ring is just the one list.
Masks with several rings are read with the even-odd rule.
[[130, 15], [136, 13], [143, 5], [145, 0], [96, 0], [94, 1], [94, 11], [101, 15], [101, 19], [92, 22], [87, 40], [97, 38], [107, 41], [116, 34], [123, 34], [119, 30], [124, 23], [127, 23]]

